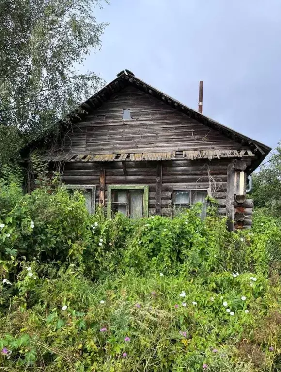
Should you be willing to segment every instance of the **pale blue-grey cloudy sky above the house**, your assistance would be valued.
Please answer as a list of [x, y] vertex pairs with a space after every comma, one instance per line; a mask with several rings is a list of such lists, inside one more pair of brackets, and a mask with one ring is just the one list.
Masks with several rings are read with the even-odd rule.
[[246, 136], [281, 140], [281, 0], [111, 0], [83, 69], [107, 82], [125, 68]]

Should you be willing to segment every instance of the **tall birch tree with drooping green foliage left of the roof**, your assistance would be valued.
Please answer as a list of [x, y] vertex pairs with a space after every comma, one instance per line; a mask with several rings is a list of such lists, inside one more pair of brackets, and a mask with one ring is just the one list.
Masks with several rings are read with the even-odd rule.
[[106, 24], [94, 9], [103, 2], [1, 0], [1, 162], [100, 88], [101, 78], [77, 66], [100, 48]]

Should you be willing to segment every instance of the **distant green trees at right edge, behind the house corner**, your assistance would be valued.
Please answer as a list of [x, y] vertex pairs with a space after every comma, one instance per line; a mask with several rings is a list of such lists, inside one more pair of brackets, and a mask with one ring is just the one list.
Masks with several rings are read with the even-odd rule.
[[253, 174], [252, 198], [256, 207], [267, 208], [273, 216], [281, 216], [281, 143], [269, 162]]

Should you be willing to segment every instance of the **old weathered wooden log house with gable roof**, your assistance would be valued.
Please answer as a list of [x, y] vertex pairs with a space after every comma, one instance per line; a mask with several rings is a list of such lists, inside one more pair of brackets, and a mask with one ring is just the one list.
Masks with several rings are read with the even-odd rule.
[[119, 73], [58, 125], [48, 145], [29, 149], [59, 166], [66, 187], [85, 190], [90, 212], [102, 205], [108, 216], [171, 216], [210, 194], [230, 229], [250, 227], [246, 179], [271, 149], [132, 72]]

